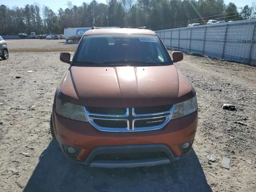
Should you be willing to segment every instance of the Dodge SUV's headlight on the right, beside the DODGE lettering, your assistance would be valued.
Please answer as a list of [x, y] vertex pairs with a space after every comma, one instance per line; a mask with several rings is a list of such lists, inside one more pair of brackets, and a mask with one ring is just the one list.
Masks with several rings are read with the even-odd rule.
[[175, 104], [175, 108], [172, 113], [172, 119], [183, 117], [185, 115], [195, 112], [196, 110], [197, 101], [196, 96], [194, 96], [192, 99]]

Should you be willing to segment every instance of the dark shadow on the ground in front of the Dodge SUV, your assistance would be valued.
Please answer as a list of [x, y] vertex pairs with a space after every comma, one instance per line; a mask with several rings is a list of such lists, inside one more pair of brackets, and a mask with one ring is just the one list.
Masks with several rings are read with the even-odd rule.
[[57, 142], [51, 141], [24, 192], [212, 192], [192, 150], [184, 159], [167, 165], [142, 168], [90, 168], [66, 159]]

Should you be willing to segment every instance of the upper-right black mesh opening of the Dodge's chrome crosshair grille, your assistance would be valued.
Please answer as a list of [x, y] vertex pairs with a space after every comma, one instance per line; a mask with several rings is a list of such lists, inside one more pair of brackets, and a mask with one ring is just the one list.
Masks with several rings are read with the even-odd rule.
[[150, 106], [150, 107], [135, 107], [134, 112], [136, 114], [152, 114], [152, 113], [162, 113], [169, 111], [172, 105], [162, 105], [162, 106]]

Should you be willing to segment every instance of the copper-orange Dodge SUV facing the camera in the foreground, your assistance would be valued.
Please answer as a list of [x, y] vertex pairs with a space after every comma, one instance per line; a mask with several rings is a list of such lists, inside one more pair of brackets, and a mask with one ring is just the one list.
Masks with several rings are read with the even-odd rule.
[[[173, 59], [173, 60], [172, 60]], [[64, 154], [93, 167], [170, 163], [191, 151], [196, 92], [155, 32], [88, 30], [56, 90], [52, 137]]]

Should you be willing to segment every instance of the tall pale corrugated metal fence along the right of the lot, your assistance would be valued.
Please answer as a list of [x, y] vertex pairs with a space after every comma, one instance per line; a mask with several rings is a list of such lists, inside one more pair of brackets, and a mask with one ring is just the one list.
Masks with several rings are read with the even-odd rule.
[[166, 48], [256, 65], [256, 19], [158, 30]]

